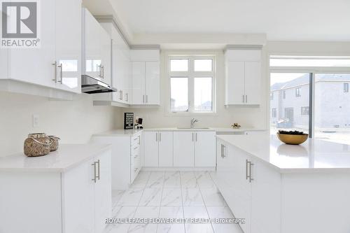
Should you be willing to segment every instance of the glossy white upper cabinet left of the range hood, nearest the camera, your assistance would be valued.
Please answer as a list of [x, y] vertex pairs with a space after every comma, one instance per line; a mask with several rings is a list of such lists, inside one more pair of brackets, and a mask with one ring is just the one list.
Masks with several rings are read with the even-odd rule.
[[40, 45], [0, 48], [1, 86], [48, 97], [52, 90], [80, 93], [81, 0], [41, 1], [38, 10]]

